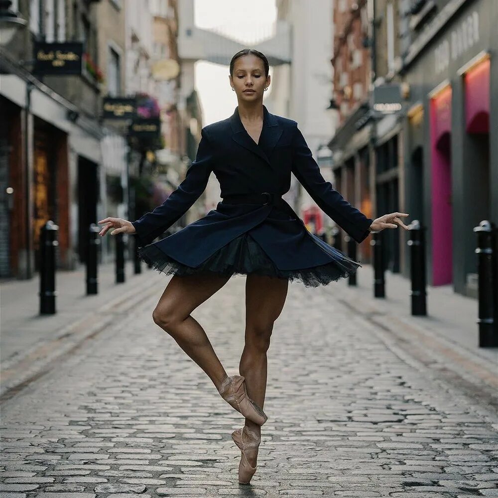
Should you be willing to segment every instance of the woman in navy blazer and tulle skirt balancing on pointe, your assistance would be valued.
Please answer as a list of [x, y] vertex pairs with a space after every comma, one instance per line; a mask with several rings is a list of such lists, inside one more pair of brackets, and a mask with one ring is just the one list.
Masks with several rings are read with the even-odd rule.
[[[280, 315], [289, 281], [307, 287], [327, 285], [359, 266], [341, 251], [311, 234], [282, 195], [291, 173], [311, 197], [357, 243], [370, 232], [409, 228], [391, 213], [367, 218], [326, 182], [293, 120], [268, 112], [268, 61], [244, 49], [230, 62], [230, 84], [238, 106], [229, 118], [201, 130], [195, 161], [178, 188], [152, 212], [129, 222], [105, 218], [104, 236], [135, 234], [138, 255], [156, 270], [172, 274], [153, 320], [211, 378], [220, 395], [246, 418], [232, 433], [241, 449], [239, 483], [256, 471], [266, 390], [266, 351]], [[221, 197], [205, 217], [157, 242], [199, 198], [214, 172]], [[240, 375], [227, 375], [201, 325], [190, 313], [223, 287], [233, 274], [246, 274], [245, 347]]]

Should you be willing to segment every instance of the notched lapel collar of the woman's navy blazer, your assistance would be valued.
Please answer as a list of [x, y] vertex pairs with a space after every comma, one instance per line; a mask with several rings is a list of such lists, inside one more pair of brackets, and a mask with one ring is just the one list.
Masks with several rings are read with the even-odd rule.
[[259, 135], [259, 142], [257, 144], [247, 132], [244, 124], [242, 124], [239, 116], [239, 106], [235, 108], [234, 114], [229, 118], [229, 121], [233, 132], [232, 138], [238, 144], [257, 154], [271, 166], [268, 157], [282, 135], [283, 127], [278, 123], [276, 117], [268, 112], [266, 106], [263, 104], [263, 127], [261, 128], [261, 134]]

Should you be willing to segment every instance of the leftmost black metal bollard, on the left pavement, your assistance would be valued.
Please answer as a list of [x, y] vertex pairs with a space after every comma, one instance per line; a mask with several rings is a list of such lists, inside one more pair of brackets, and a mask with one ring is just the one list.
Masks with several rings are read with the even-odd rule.
[[56, 240], [59, 227], [48, 220], [40, 228], [40, 314], [54, 315], [55, 298], [55, 248], [59, 245]]

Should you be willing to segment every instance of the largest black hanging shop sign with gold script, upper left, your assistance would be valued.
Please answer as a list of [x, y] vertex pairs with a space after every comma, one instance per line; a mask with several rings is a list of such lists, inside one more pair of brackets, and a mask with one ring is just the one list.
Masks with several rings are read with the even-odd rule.
[[34, 69], [37, 74], [69, 75], [81, 74], [83, 43], [46, 43], [34, 44]]

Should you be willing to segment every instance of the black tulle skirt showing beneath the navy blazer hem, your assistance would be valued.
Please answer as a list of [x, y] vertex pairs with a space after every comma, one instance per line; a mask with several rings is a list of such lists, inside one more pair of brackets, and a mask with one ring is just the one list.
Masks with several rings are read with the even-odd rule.
[[[330, 247], [330, 246], [329, 246]], [[154, 269], [167, 275], [191, 275], [199, 272], [214, 272], [220, 275], [256, 273], [289, 281], [300, 281], [305, 287], [317, 287], [347, 277], [361, 266], [341, 251], [332, 248], [334, 260], [319, 266], [280, 270], [261, 246], [244, 233], [218, 249], [199, 266], [192, 267], [176, 261], [153, 243], [137, 249], [138, 256]]]

